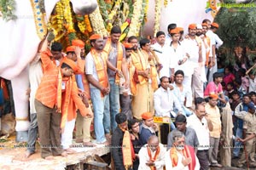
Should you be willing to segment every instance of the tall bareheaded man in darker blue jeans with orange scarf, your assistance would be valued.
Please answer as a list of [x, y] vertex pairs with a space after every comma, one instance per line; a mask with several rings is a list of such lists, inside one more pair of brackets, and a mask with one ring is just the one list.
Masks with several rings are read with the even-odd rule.
[[[125, 48], [119, 42], [121, 36], [121, 29], [119, 26], [113, 26], [110, 31], [110, 38], [108, 38], [104, 51], [108, 54], [108, 61], [115, 67], [115, 71], [108, 68], [108, 82], [110, 85], [110, 94], [105, 103], [106, 119], [104, 119], [105, 131], [109, 135], [117, 126], [114, 117], [119, 113], [119, 86], [124, 85], [125, 88], [129, 86], [127, 77], [127, 65], [125, 62]], [[120, 72], [121, 71], [121, 72]], [[125, 77], [125, 82], [120, 84], [120, 77]], [[109, 117], [109, 118], [107, 118]]]

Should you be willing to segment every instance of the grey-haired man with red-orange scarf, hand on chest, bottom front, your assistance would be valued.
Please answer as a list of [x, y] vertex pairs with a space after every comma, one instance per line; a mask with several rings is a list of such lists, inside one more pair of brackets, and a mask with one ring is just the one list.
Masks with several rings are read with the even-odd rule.
[[173, 141], [172, 148], [166, 152], [166, 170], [199, 170], [194, 148], [185, 144], [184, 134], [174, 132]]

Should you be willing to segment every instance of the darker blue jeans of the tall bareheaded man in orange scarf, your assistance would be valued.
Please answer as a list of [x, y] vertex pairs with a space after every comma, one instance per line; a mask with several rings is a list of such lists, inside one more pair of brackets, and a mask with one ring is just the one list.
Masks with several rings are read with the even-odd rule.
[[109, 78], [110, 84], [110, 93], [106, 99], [106, 103], [104, 105], [104, 129], [105, 133], [113, 132], [115, 127], [117, 127], [117, 123], [115, 122], [115, 116], [120, 111], [119, 105], [119, 86], [115, 84], [114, 78]]

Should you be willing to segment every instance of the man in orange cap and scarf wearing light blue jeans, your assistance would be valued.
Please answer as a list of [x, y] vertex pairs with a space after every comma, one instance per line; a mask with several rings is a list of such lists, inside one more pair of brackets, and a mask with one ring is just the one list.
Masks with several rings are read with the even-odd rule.
[[88, 82], [90, 82], [96, 142], [98, 144], [108, 144], [103, 126], [104, 105], [110, 92], [107, 74], [108, 55], [103, 52], [104, 45], [101, 35], [94, 34], [90, 36], [90, 44], [92, 48], [85, 57], [85, 74]]

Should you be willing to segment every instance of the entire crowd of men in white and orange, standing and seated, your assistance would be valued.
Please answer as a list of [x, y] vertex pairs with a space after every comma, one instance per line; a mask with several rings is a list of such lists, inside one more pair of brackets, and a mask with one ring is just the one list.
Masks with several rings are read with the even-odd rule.
[[[216, 49], [223, 42], [217, 29], [203, 20], [183, 35], [170, 24], [167, 35], [122, 43], [121, 29], [113, 26], [108, 38], [90, 36], [89, 54], [79, 39], [63, 49], [46, 38], [29, 65], [26, 157], [35, 153], [39, 135], [45, 159], [75, 153], [75, 139], [84, 147], [112, 144], [115, 169], [230, 167], [231, 151], [241, 156], [238, 167], [256, 166], [256, 78], [242, 65], [218, 71]], [[175, 121], [159, 126], [154, 116]]]

